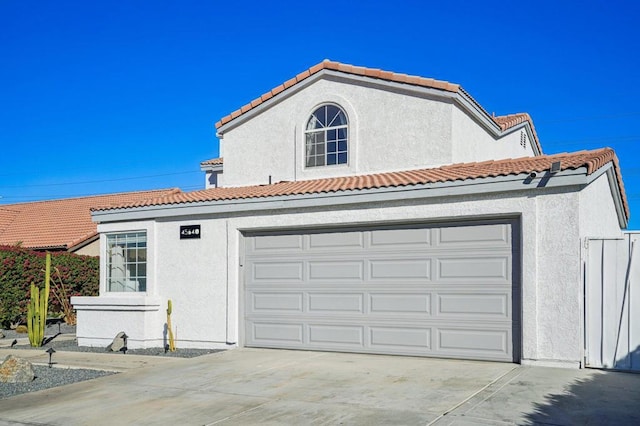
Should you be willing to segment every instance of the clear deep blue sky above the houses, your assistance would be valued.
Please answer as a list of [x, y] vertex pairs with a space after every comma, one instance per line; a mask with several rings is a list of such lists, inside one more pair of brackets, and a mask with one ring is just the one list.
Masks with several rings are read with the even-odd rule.
[[0, 204], [201, 189], [214, 123], [325, 58], [616, 150], [640, 229], [635, 1], [0, 1]]

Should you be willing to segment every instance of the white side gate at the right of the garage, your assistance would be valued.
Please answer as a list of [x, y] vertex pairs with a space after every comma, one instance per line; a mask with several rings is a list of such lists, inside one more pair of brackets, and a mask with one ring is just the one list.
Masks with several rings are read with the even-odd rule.
[[588, 240], [585, 345], [587, 367], [640, 371], [640, 233]]

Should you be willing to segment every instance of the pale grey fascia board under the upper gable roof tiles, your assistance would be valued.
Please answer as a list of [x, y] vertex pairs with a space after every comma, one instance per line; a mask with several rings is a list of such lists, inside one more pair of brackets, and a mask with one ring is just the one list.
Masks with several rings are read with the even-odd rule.
[[257, 107], [250, 109], [249, 111], [245, 112], [239, 117], [231, 120], [227, 124], [220, 126], [220, 128], [217, 130], [216, 136], [222, 138], [225, 132], [241, 125], [247, 120], [250, 120], [251, 118], [260, 114], [265, 109], [271, 108], [273, 105], [276, 105], [277, 103], [282, 102], [283, 100], [290, 97], [291, 95], [297, 93], [298, 91], [304, 89], [305, 87], [325, 77], [330, 77], [333, 80], [339, 80], [345, 83], [348, 83], [350, 81], [357, 81], [360, 83], [364, 83], [368, 86], [375, 86], [375, 87], [378, 87], [381, 89], [387, 89], [387, 90], [393, 89], [396, 92], [409, 94], [413, 96], [426, 95], [434, 98], [449, 99], [457, 103], [460, 107], [462, 107], [463, 109], [471, 113], [473, 116], [475, 116], [484, 127], [490, 130], [491, 133], [493, 133], [494, 136], [499, 136], [502, 134], [502, 129], [500, 128], [500, 126], [495, 121], [493, 121], [491, 117], [484, 110], [482, 110], [474, 101], [472, 101], [469, 98], [469, 96], [467, 96], [464, 93], [464, 91], [455, 93], [455, 92], [449, 92], [443, 89], [415, 86], [407, 83], [399, 83], [395, 81], [382, 80], [378, 78], [372, 78], [367, 76], [354, 75], [354, 74], [343, 73], [340, 71], [324, 69], [306, 78], [305, 80], [302, 80], [300, 83], [296, 83], [295, 85], [289, 87], [288, 89], [285, 89], [285, 91], [279, 94], [278, 96], [275, 96], [267, 100], [266, 102], [261, 103]]

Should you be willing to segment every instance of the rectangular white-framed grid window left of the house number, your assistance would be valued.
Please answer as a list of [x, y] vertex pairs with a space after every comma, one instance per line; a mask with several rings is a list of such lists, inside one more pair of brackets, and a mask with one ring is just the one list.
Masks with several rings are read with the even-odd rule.
[[105, 233], [104, 255], [107, 293], [148, 291], [149, 239], [146, 230]]

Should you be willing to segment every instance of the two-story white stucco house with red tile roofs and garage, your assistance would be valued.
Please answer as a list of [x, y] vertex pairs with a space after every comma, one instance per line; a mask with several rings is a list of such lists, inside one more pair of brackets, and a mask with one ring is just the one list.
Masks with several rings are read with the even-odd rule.
[[583, 241], [628, 207], [610, 149], [324, 61], [216, 123], [207, 189], [96, 209], [80, 345], [270, 347], [580, 366]]

